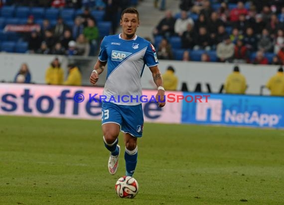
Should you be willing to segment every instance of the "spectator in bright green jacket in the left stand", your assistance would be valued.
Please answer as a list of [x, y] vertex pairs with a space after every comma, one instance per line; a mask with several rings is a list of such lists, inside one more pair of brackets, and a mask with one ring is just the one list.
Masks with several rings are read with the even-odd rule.
[[88, 26], [84, 28], [83, 33], [90, 43], [89, 56], [94, 56], [97, 52], [100, 33], [93, 19], [88, 19]]

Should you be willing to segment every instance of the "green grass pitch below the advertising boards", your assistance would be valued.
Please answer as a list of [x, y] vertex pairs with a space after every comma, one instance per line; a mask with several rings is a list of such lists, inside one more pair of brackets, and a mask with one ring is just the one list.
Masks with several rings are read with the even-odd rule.
[[284, 205], [284, 130], [145, 123], [135, 199], [101, 122], [0, 116], [0, 205]]

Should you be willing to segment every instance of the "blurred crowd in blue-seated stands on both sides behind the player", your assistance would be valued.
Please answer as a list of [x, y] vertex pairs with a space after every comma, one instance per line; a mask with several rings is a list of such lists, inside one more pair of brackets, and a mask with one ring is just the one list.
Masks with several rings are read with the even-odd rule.
[[[97, 55], [138, 0], [1, 0], [0, 51]], [[284, 63], [284, 0], [180, 0], [153, 28], [159, 59]], [[157, 6], [156, 0], [153, 0]], [[161, 8], [160, 10], [163, 10]]]

